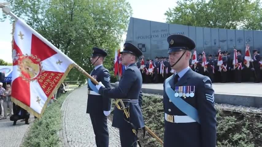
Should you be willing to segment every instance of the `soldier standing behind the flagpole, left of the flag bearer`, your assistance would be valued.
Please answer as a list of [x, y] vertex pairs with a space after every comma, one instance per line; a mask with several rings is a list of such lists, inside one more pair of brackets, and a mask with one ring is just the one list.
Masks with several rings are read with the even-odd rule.
[[[107, 53], [100, 48], [94, 47], [91, 62], [94, 70], [91, 76], [98, 82], [102, 82], [106, 88], [110, 88], [110, 74], [103, 66]], [[90, 80], [88, 81], [87, 113], [89, 113], [94, 129], [97, 147], [108, 147], [109, 134], [107, 128], [107, 116], [110, 114], [111, 100], [101, 96]]]

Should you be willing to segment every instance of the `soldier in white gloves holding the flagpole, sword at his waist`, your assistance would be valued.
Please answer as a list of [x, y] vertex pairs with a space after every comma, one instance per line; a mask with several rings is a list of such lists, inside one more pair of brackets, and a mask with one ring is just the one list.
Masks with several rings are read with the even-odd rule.
[[118, 87], [108, 89], [101, 82], [96, 87], [104, 99], [121, 99], [125, 107], [129, 107], [127, 110], [129, 110], [130, 119], [126, 118], [122, 110], [115, 107], [112, 126], [119, 128], [122, 147], [136, 147], [138, 138], [133, 133], [133, 129], [144, 128], [144, 119], [141, 111], [142, 76], [136, 65], [137, 58], [142, 56], [142, 52], [132, 43], [126, 42], [124, 50], [120, 54], [122, 64], [126, 66], [126, 69]]

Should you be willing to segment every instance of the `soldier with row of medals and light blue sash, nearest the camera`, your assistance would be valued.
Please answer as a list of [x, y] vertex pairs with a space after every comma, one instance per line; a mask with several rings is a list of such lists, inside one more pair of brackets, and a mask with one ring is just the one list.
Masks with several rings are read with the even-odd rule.
[[190, 69], [193, 40], [168, 36], [169, 60], [177, 74], [164, 82], [164, 147], [215, 147], [216, 110], [209, 77]]

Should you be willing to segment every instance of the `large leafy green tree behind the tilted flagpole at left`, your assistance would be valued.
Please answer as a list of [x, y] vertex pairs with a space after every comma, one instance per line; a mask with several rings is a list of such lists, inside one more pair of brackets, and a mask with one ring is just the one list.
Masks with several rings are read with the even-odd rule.
[[[23, 18], [87, 72], [92, 47], [108, 52], [105, 65], [113, 71], [114, 50], [119, 48], [132, 9], [126, 0], [9, 0], [13, 13]], [[5, 16], [4, 16], [5, 17]], [[70, 80], [86, 79], [71, 70]]]

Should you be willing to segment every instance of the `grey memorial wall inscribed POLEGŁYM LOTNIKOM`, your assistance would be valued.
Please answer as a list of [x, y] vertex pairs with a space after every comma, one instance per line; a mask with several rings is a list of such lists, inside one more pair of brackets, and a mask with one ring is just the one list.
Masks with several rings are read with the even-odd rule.
[[126, 41], [137, 46], [145, 58], [168, 57], [167, 37], [170, 34], [189, 36], [196, 43], [197, 53], [205, 50], [206, 55], [216, 54], [219, 46], [221, 51], [231, 54], [236, 46], [244, 55], [245, 43], [249, 44], [251, 53], [253, 49], [262, 51], [262, 31], [194, 27], [133, 17], [129, 21]]

